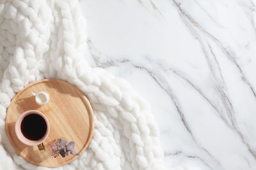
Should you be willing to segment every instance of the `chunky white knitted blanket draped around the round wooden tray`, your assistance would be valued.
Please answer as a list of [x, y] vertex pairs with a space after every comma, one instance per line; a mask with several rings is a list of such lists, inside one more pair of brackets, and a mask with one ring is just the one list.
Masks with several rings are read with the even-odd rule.
[[164, 169], [148, 104], [125, 80], [83, 59], [85, 24], [76, 0], [0, 0], [0, 169], [48, 169], [17, 155], [4, 126], [15, 93], [43, 78], [76, 85], [95, 118], [88, 149], [54, 169]]

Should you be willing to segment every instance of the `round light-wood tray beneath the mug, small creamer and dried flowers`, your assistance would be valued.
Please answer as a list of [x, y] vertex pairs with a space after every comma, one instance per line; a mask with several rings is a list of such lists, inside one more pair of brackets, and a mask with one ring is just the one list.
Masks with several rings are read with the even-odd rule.
[[[36, 104], [35, 97], [31, 95], [31, 92], [41, 91], [50, 96], [49, 103], [44, 106]], [[44, 141], [45, 151], [39, 151], [37, 146], [24, 145], [15, 134], [15, 122], [27, 110], [41, 111], [49, 120], [50, 132]], [[92, 107], [83, 92], [66, 81], [55, 79], [30, 83], [13, 97], [5, 122], [7, 136], [16, 152], [28, 162], [45, 167], [62, 166], [78, 157], [69, 153], [64, 158], [53, 158], [47, 144], [58, 138], [74, 141], [75, 151], [81, 155], [92, 139], [94, 128]]]

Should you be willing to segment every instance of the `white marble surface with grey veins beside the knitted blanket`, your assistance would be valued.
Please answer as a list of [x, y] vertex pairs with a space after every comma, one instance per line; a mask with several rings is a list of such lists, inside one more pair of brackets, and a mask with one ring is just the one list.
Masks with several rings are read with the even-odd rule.
[[79, 3], [88, 62], [151, 104], [167, 167], [256, 169], [256, 1]]

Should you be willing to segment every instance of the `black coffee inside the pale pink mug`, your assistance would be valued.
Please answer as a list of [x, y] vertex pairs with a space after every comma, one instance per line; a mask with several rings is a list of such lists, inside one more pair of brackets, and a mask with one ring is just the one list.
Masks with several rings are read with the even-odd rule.
[[47, 130], [47, 125], [40, 115], [31, 114], [23, 118], [20, 129], [22, 134], [32, 141], [37, 141], [41, 139]]

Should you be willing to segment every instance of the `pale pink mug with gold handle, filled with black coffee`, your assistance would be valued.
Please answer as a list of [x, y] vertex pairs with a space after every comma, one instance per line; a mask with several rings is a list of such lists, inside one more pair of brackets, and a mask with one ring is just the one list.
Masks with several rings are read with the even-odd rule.
[[[40, 117], [38, 117], [38, 115]], [[38, 120], [40, 120], [42, 122], [42, 124], [44, 124], [44, 127], [40, 127], [40, 125], [38, 127], [38, 123], [35, 124], [35, 122]], [[39, 124], [40, 124], [40, 122], [39, 122]], [[37, 129], [38, 132], [35, 131], [33, 126], [36, 126], [35, 129]], [[25, 128], [25, 130], [24, 130], [24, 128]], [[43, 132], [40, 132], [41, 130]], [[27, 132], [25, 132], [25, 131], [27, 131]], [[25, 145], [29, 145], [29, 146], [37, 145], [39, 150], [45, 150], [43, 142], [48, 137], [49, 132], [50, 132], [49, 121], [47, 120], [47, 118], [45, 117], [45, 115], [43, 113], [41, 113], [40, 111], [37, 111], [37, 110], [25, 111], [24, 113], [22, 113], [19, 116], [19, 118], [17, 119], [17, 121], [15, 123], [15, 133], [16, 133], [18, 139]], [[42, 133], [44, 133], [44, 134], [42, 134]], [[28, 138], [28, 136], [26, 136], [26, 134], [28, 136], [32, 136], [32, 138]], [[42, 136], [39, 136], [40, 139], [36, 138], [36, 136], [38, 137], [38, 135], [42, 135]], [[33, 138], [33, 136], [35, 138]]]

